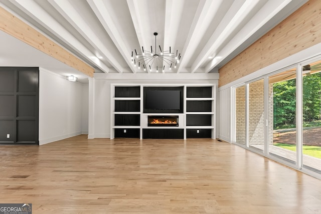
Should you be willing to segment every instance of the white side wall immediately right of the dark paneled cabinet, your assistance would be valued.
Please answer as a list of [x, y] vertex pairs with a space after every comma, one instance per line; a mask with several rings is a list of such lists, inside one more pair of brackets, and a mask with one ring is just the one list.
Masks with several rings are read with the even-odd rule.
[[39, 144], [86, 132], [88, 93], [83, 92], [88, 85], [67, 81], [42, 68], [39, 71]]

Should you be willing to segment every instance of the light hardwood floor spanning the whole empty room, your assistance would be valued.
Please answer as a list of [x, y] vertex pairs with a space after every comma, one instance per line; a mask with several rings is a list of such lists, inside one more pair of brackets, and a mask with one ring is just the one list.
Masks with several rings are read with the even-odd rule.
[[0, 203], [35, 213], [321, 213], [321, 180], [212, 139], [0, 145]]

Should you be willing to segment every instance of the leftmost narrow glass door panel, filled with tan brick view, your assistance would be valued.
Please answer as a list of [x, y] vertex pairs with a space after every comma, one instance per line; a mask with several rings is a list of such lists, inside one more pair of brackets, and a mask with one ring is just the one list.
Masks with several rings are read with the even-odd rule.
[[245, 86], [235, 89], [235, 142], [245, 145], [246, 132]]

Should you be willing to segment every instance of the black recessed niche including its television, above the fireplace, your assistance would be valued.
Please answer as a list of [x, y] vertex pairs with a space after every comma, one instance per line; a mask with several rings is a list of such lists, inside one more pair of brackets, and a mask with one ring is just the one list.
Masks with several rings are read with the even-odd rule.
[[144, 87], [144, 113], [182, 113], [183, 87]]

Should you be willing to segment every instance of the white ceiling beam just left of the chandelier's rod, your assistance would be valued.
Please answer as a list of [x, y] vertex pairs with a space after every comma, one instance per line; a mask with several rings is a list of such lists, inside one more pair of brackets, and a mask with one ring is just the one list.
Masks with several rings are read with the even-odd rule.
[[[150, 28], [150, 20], [148, 19], [149, 10], [147, 7], [147, 0], [127, 0], [127, 5], [139, 43], [139, 50], [137, 51], [142, 52], [142, 46], [149, 51], [149, 47], [153, 44], [153, 41], [150, 39], [152, 38], [150, 33], [152, 30]], [[150, 73], [149, 69], [146, 70], [147, 73]]]

